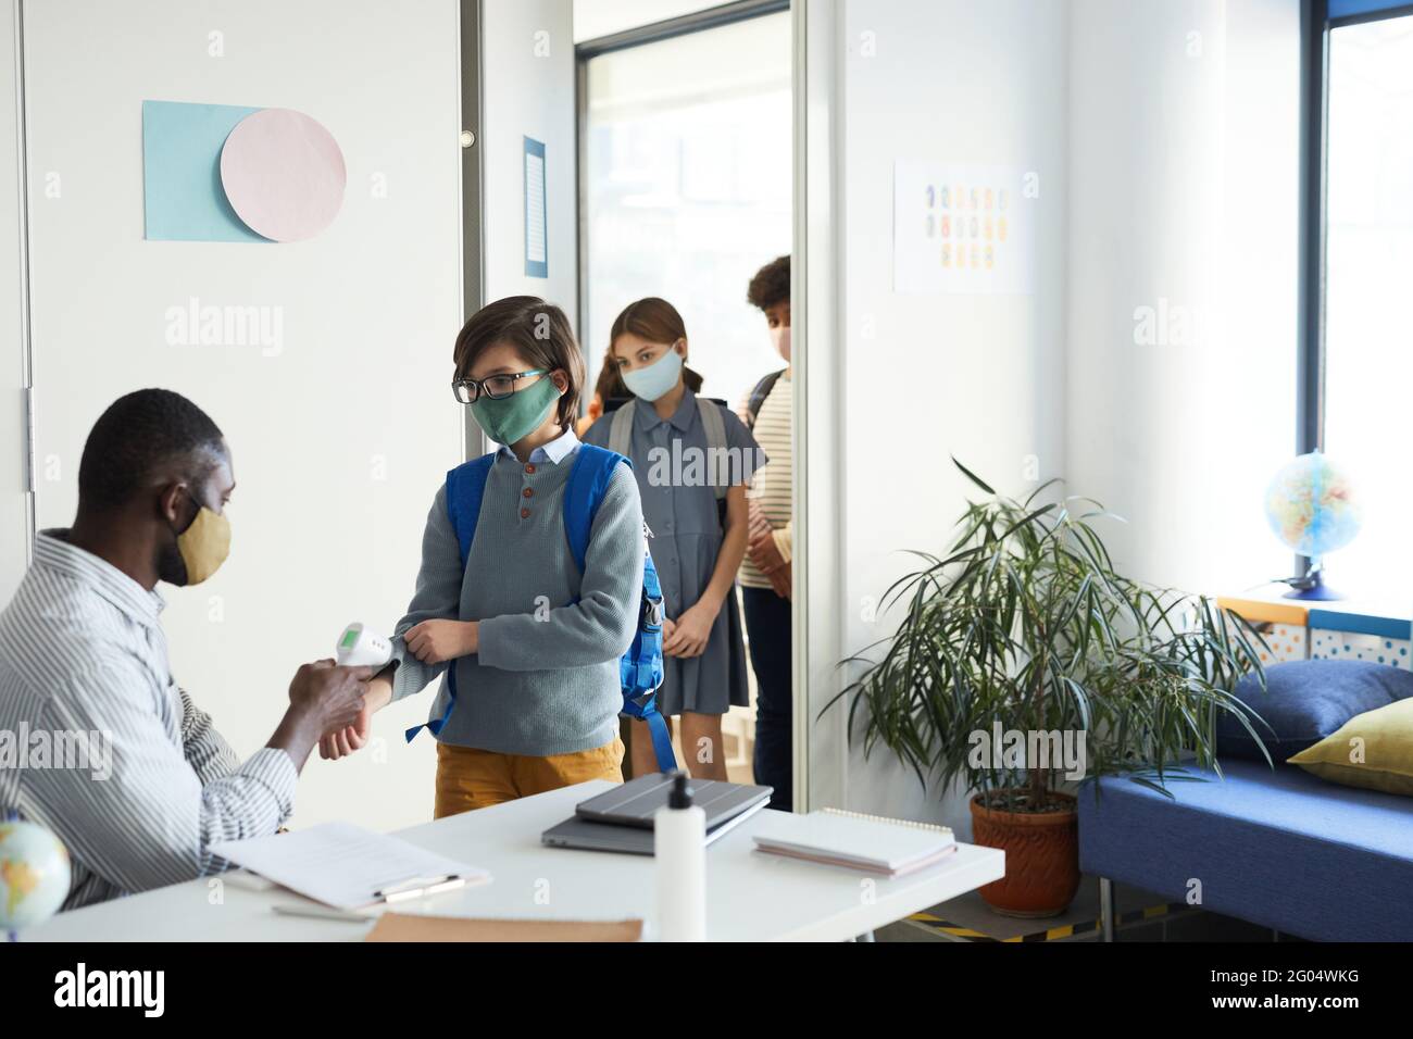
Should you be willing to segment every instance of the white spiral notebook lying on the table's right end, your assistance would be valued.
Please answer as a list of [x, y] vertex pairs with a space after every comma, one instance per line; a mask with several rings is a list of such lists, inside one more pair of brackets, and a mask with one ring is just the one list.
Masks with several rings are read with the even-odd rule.
[[944, 826], [821, 809], [807, 816], [771, 816], [752, 834], [756, 850], [882, 876], [926, 869], [957, 850]]

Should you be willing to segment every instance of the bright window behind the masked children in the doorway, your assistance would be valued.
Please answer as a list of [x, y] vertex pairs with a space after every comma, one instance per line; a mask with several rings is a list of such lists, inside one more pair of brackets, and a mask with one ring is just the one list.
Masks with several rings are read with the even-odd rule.
[[735, 407], [783, 368], [746, 284], [790, 252], [790, 51], [781, 11], [586, 61], [591, 382], [613, 318], [644, 295], [681, 312], [705, 396]]

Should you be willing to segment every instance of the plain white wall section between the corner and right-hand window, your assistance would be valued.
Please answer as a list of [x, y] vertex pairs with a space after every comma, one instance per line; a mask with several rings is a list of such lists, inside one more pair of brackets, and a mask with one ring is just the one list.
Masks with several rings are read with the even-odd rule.
[[1121, 565], [1190, 591], [1291, 565], [1262, 500], [1296, 440], [1299, 16], [1071, 6], [1067, 471], [1129, 520]]

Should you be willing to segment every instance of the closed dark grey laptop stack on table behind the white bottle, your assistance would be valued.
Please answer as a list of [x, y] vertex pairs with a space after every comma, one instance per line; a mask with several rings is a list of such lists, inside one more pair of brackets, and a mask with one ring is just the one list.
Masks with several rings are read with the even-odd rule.
[[[667, 804], [670, 776], [653, 772], [582, 802], [572, 818], [541, 834], [555, 848], [653, 854], [653, 816]], [[770, 803], [773, 787], [692, 780], [692, 803], [706, 814], [706, 844], [725, 837]]]

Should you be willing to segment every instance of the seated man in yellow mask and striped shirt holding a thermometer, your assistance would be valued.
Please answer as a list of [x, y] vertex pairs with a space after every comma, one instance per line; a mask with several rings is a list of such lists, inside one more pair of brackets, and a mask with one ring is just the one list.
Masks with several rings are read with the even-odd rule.
[[305, 664], [270, 742], [242, 765], [172, 681], [154, 588], [220, 565], [233, 488], [226, 442], [199, 407], [167, 390], [119, 399], [83, 447], [73, 527], [38, 534], [0, 614], [0, 734], [11, 745], [28, 734], [21, 753], [40, 734], [109, 762], [0, 756], [0, 810], [69, 850], [65, 909], [226, 868], [211, 845], [276, 833], [309, 751], [362, 710], [369, 669]]

